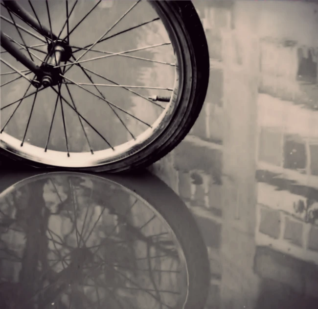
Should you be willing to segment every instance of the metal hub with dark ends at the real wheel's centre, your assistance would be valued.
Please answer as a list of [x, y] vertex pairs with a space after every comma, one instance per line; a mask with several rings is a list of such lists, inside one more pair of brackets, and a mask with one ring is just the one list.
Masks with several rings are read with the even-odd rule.
[[62, 82], [61, 68], [57, 68], [61, 62], [66, 62], [72, 55], [72, 50], [67, 43], [58, 40], [47, 46], [47, 53], [50, 55], [48, 61], [41, 65], [42, 75], [37, 77], [35, 85], [40, 87], [54, 86]]

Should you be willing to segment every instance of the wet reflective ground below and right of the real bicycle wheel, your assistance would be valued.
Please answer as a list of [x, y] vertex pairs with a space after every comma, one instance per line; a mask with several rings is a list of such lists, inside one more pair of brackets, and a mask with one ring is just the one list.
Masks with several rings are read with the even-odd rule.
[[[47, 174], [30, 180], [29, 174], [12, 171], [22, 167], [2, 162], [1, 282], [33, 291], [42, 284], [31, 299], [27, 289], [20, 298], [11, 293], [21, 285], [6, 285], [1, 292], [7, 302], [98, 308], [112, 294], [110, 308], [178, 308], [186, 299], [188, 268], [200, 271], [194, 263], [187, 267], [180, 250], [181, 235], [196, 230], [179, 224], [178, 214], [187, 208], [208, 251], [206, 309], [317, 308], [318, 4], [242, 0], [233, 9], [229, 2], [194, 1], [210, 52], [204, 108], [184, 141], [149, 169], [154, 182], [144, 182], [136, 210], [129, 210], [136, 175], [125, 177], [121, 186], [105, 175]], [[156, 185], [151, 189], [149, 183]], [[169, 219], [156, 211], [163, 196], [168, 200], [163, 211], [177, 203], [187, 207]], [[100, 215], [102, 209], [106, 214]], [[78, 231], [71, 228], [75, 210]], [[103, 229], [94, 224], [99, 216]], [[113, 231], [116, 237], [107, 236]], [[75, 250], [83, 247], [82, 236], [87, 247], [101, 248], [93, 257]], [[103, 249], [105, 239], [110, 251]], [[194, 235], [188, 243], [200, 239]], [[146, 264], [143, 258], [155, 256], [148, 246], [168, 251], [169, 257]], [[115, 267], [106, 276], [107, 258]], [[83, 271], [74, 270], [74, 261]], [[100, 272], [88, 276], [96, 264], [102, 265]], [[57, 274], [60, 283], [50, 285]], [[54, 297], [63, 288], [57, 303]]]

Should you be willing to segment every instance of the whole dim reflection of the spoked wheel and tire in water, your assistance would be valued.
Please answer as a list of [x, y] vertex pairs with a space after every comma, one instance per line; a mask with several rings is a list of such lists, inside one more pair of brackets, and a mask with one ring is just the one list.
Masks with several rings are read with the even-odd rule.
[[204, 240], [157, 178], [25, 173], [0, 184], [1, 308], [204, 308]]

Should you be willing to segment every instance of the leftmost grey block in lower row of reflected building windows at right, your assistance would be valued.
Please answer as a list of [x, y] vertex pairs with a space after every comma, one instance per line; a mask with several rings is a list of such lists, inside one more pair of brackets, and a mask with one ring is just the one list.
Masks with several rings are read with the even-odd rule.
[[261, 223], [259, 232], [278, 238], [280, 232], [280, 214], [277, 210], [261, 208]]

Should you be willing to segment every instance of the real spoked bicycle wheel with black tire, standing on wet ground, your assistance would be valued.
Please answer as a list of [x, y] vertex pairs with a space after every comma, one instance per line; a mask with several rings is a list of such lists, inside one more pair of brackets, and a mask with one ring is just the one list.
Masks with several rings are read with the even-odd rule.
[[149, 165], [181, 142], [209, 77], [191, 1], [19, 3], [57, 39], [37, 33], [4, 1], [6, 38], [39, 66], [58, 63], [54, 44], [65, 61], [51, 65], [60, 73], [36, 89], [16, 71], [34, 74], [1, 49], [1, 154], [36, 167], [119, 172]]

